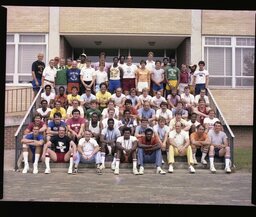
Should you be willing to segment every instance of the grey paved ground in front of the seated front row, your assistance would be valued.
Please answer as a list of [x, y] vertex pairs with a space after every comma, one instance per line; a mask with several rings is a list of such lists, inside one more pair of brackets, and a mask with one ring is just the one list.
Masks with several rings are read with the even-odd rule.
[[52, 168], [49, 175], [42, 169], [34, 175], [13, 171], [12, 156], [12, 151], [5, 151], [3, 201], [254, 206], [252, 175], [247, 172], [211, 174], [199, 169], [189, 174], [187, 169], [177, 169], [159, 175], [147, 168], [141, 176], [134, 176], [130, 169], [121, 169], [117, 176], [109, 168], [103, 175], [82, 168], [81, 173], [68, 175], [65, 168]]

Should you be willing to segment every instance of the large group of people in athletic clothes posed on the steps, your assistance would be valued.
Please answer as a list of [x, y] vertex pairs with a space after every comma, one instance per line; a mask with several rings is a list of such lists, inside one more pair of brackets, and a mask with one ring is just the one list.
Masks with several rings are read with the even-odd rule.
[[207, 165], [209, 156], [212, 173], [215, 155], [225, 157], [225, 171], [231, 172], [227, 136], [210, 108], [203, 61], [198, 71], [197, 65], [185, 64], [180, 70], [175, 59], [153, 61], [152, 52], [139, 66], [131, 56], [108, 64], [101, 53], [97, 63], [81, 54], [79, 64], [55, 58], [44, 68], [42, 57], [32, 64], [33, 89], [44, 92], [21, 140], [23, 173], [29, 171], [29, 160], [38, 173], [41, 159], [46, 174], [52, 161], [69, 162], [69, 174], [77, 173], [80, 163], [95, 163], [102, 174], [106, 155], [112, 156], [116, 175], [122, 162], [132, 163], [135, 175], [144, 174], [145, 163], [166, 174], [163, 156], [169, 173], [175, 156], [187, 156], [189, 172], [195, 173], [198, 149], [200, 163]]

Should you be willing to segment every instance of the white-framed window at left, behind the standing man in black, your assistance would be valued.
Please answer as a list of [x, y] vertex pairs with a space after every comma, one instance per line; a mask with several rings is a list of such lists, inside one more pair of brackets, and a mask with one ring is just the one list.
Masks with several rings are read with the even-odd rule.
[[[32, 80], [31, 66], [37, 54], [45, 54], [47, 60], [47, 35], [7, 35], [6, 83], [29, 83]], [[47, 65], [47, 64], [46, 64]]]

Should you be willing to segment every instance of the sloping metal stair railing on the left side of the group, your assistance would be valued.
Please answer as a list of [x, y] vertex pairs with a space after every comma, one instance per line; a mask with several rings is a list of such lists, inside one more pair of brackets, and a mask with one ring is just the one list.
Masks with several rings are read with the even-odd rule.
[[27, 113], [24, 116], [23, 120], [21, 121], [16, 133], [15, 133], [15, 171], [17, 171], [20, 168], [20, 165], [22, 163], [22, 144], [20, 140], [23, 137], [24, 130], [28, 126], [28, 124], [32, 121], [32, 118], [36, 112], [36, 108], [39, 105], [40, 101], [40, 95], [43, 88], [40, 88], [38, 91], [36, 97], [33, 99], [33, 102], [31, 103], [30, 107], [26, 110]]

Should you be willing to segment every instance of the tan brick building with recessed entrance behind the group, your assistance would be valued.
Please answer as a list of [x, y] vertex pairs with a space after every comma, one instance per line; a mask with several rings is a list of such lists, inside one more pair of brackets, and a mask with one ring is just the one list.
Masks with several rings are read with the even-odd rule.
[[[31, 64], [39, 51], [46, 64], [82, 52], [94, 62], [100, 51], [108, 62], [128, 54], [139, 62], [148, 51], [155, 59], [174, 57], [178, 66], [204, 60], [209, 87], [236, 141], [244, 131], [252, 134], [255, 11], [6, 7], [7, 89], [31, 87]], [[14, 124], [6, 123], [13, 131]]]

